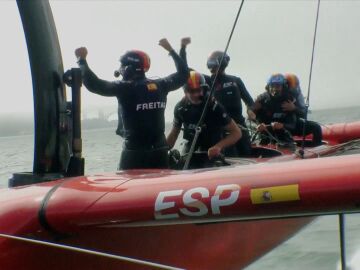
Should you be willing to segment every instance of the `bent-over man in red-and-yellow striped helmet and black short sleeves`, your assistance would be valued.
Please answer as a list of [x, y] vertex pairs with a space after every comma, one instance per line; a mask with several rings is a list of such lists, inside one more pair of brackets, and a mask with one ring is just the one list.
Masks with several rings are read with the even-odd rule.
[[[184, 126], [183, 137], [187, 140], [187, 144], [183, 152], [187, 153], [190, 149], [196, 125], [206, 103], [204, 98], [206, 90], [208, 90], [208, 85], [204, 76], [196, 71], [191, 71], [190, 77], [184, 86], [185, 97], [175, 106], [173, 127], [167, 136], [170, 148], [174, 146], [181, 127]], [[219, 156], [223, 148], [235, 144], [241, 138], [241, 131], [221, 104], [212, 100], [208, 106], [195, 150], [206, 151], [208, 160], [211, 160]], [[223, 129], [228, 132], [228, 135], [224, 138], [222, 136]], [[208, 160], [200, 164], [198, 160], [193, 162], [192, 159], [190, 168], [207, 167], [210, 164], [207, 162]]]

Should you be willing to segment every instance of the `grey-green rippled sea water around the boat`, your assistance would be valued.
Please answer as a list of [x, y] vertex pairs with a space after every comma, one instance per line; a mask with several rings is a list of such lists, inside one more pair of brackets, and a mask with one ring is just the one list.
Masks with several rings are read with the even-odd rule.
[[[314, 111], [309, 115], [309, 119], [322, 125], [360, 121], [360, 110], [342, 108]], [[0, 187], [6, 187], [13, 172], [32, 170], [33, 141], [32, 135], [0, 137]], [[116, 170], [121, 144], [121, 138], [115, 134], [114, 129], [84, 130], [83, 156], [86, 174]], [[349, 269], [360, 269], [360, 214], [346, 215], [345, 220], [347, 263]], [[339, 260], [338, 217], [323, 216], [246, 270], [337, 270], [340, 269]]]

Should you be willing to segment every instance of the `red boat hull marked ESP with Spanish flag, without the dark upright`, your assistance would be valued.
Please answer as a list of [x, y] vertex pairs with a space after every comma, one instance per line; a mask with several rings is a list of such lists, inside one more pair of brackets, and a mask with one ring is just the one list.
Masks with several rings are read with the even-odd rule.
[[[318, 215], [359, 212], [359, 163], [349, 155], [134, 170], [0, 189], [0, 233], [179, 268], [241, 269]], [[0, 251], [5, 270], [154, 269], [1, 236]]]

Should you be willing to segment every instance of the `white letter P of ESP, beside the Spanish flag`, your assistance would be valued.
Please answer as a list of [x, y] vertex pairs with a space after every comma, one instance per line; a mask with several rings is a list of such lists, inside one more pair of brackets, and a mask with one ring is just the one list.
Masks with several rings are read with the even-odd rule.
[[[231, 191], [228, 198], [220, 199], [221, 194]], [[240, 186], [236, 184], [221, 185], [215, 190], [214, 196], [211, 198], [211, 209], [214, 215], [220, 214], [220, 207], [234, 204], [239, 198]]]

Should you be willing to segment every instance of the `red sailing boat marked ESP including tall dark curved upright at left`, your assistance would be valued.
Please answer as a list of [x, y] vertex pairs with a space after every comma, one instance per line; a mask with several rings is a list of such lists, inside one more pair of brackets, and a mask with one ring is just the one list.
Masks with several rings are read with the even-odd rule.
[[306, 149], [304, 160], [288, 153], [221, 168], [84, 176], [79, 71], [63, 76], [48, 2], [18, 7], [35, 155], [33, 172], [0, 189], [1, 269], [241, 269], [316, 216], [359, 212], [360, 155], [333, 155], [358, 143], [360, 122], [325, 129], [328, 144]]

